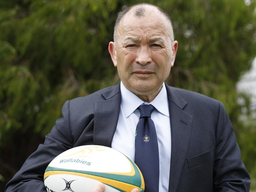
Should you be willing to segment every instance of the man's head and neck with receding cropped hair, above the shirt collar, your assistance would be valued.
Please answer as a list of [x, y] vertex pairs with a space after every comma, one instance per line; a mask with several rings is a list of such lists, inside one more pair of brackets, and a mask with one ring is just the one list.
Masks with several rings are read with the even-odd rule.
[[124, 86], [150, 102], [161, 90], [174, 64], [178, 42], [169, 17], [159, 7], [137, 4], [115, 24], [109, 53]]

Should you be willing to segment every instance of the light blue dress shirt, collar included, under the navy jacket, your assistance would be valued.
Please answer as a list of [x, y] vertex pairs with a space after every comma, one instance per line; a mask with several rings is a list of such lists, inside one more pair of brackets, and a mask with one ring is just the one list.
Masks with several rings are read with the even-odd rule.
[[[122, 82], [121, 96], [119, 119], [111, 146], [134, 161], [135, 131], [140, 116], [137, 108], [143, 103], [153, 105], [156, 110], [151, 114], [151, 118], [156, 127], [160, 161], [159, 191], [168, 192], [171, 163], [171, 126], [165, 84], [163, 83], [162, 89], [150, 103], [143, 102], [134, 93], [126, 89]], [[145, 161], [147, 160], [145, 159]]]

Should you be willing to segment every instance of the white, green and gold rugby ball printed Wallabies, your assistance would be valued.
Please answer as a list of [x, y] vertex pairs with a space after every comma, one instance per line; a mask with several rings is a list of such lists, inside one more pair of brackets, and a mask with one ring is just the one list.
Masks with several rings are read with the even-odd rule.
[[105, 192], [144, 192], [143, 176], [136, 164], [121, 152], [105, 146], [87, 145], [67, 150], [45, 170], [47, 192], [91, 192], [98, 183]]

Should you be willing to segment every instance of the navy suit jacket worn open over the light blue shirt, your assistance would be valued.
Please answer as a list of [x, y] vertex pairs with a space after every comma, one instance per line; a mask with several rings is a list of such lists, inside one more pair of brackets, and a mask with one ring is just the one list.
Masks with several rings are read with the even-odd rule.
[[[249, 191], [250, 177], [223, 104], [188, 90], [168, 85], [166, 89], [171, 122], [169, 192]], [[9, 181], [6, 192], [45, 192], [46, 166], [65, 150], [89, 144], [111, 147], [120, 103], [120, 85], [67, 101], [63, 117]]]

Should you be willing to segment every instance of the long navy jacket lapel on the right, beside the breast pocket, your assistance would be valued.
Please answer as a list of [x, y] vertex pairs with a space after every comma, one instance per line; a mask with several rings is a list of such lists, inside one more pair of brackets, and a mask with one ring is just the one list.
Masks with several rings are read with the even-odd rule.
[[172, 143], [169, 191], [176, 192], [184, 162], [186, 162], [193, 116], [183, 110], [187, 102], [182, 96], [175, 89], [169, 86], [166, 87], [169, 100]]

